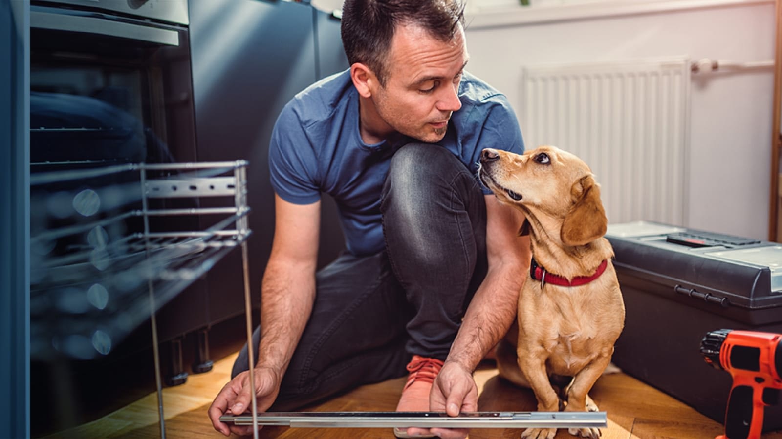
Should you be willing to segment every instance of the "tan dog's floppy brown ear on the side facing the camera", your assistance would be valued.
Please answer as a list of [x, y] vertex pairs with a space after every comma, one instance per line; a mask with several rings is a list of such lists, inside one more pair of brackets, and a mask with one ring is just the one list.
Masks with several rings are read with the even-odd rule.
[[594, 177], [590, 174], [576, 181], [570, 188], [570, 195], [576, 204], [562, 221], [562, 242], [571, 246], [585, 245], [603, 236], [608, 229], [608, 218], [600, 201], [600, 186]]

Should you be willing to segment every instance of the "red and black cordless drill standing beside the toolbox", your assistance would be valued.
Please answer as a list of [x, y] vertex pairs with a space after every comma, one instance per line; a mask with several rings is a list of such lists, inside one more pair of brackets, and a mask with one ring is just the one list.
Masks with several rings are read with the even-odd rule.
[[779, 402], [782, 390], [782, 334], [714, 330], [703, 337], [701, 355], [733, 377], [725, 434], [717, 439], [759, 438], [763, 410]]

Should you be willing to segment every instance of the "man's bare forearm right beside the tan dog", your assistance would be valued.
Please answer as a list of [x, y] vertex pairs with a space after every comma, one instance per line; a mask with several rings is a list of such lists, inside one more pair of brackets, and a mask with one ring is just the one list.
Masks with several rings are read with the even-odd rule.
[[465, 313], [448, 359], [469, 371], [508, 331], [516, 316], [518, 292], [526, 277], [518, 263], [490, 268]]

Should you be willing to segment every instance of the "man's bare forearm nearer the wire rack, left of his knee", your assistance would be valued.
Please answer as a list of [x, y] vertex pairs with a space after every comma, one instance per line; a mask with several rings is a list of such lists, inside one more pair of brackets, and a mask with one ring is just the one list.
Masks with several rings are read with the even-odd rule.
[[270, 262], [264, 273], [260, 303], [260, 347], [256, 366], [280, 377], [299, 343], [315, 298], [315, 279], [305, 270]]

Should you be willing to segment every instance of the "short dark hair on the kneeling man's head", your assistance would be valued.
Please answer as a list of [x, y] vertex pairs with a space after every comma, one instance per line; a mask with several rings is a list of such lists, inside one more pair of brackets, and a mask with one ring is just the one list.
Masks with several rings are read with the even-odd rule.
[[414, 24], [432, 37], [451, 41], [465, 25], [461, 0], [346, 0], [342, 14], [342, 40], [351, 65], [366, 64], [380, 84], [389, 71], [386, 59], [396, 26]]

